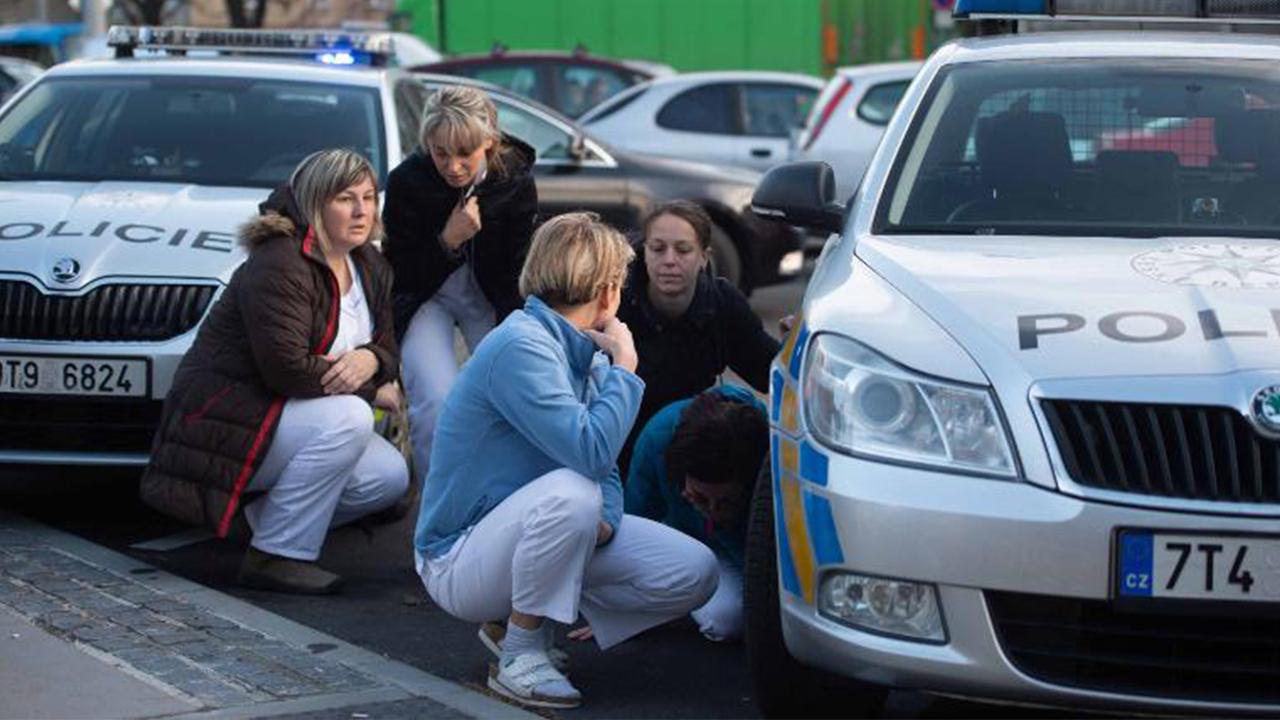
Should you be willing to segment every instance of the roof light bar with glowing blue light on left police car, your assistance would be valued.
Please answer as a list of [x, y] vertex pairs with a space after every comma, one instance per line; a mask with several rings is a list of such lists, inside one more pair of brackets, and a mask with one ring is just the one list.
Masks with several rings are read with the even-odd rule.
[[116, 58], [132, 58], [134, 50], [211, 50], [236, 54], [300, 55], [310, 58], [342, 58], [353, 64], [356, 58], [367, 64], [385, 65], [394, 51], [394, 40], [384, 32], [348, 32], [325, 29], [225, 29], [201, 27], [113, 26], [106, 44]]

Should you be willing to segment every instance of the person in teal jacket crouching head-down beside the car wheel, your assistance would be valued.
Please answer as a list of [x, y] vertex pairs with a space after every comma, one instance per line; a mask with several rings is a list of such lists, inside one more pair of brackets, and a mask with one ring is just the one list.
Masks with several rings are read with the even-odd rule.
[[751, 488], [768, 450], [764, 405], [719, 386], [659, 410], [636, 439], [626, 511], [701, 541], [719, 564], [716, 594], [692, 611], [703, 635], [742, 634], [742, 560]]

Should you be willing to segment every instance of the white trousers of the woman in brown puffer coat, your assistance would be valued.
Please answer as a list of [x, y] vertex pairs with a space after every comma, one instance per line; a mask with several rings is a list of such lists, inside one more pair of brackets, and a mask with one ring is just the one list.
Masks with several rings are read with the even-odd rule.
[[244, 507], [251, 544], [294, 560], [320, 557], [329, 528], [392, 506], [408, 488], [404, 457], [374, 432], [355, 395], [288, 400]]

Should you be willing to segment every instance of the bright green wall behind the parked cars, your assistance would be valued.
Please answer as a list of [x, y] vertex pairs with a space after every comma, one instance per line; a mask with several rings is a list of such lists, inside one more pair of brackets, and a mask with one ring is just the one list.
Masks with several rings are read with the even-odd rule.
[[826, 74], [924, 56], [950, 33], [937, 0], [399, 0], [412, 32], [451, 54], [572, 50], [667, 63]]

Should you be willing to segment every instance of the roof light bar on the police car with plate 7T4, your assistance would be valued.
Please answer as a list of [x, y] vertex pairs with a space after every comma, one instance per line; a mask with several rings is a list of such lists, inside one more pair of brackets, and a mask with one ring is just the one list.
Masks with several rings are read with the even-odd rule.
[[956, 0], [957, 19], [1280, 23], [1280, 0]]

